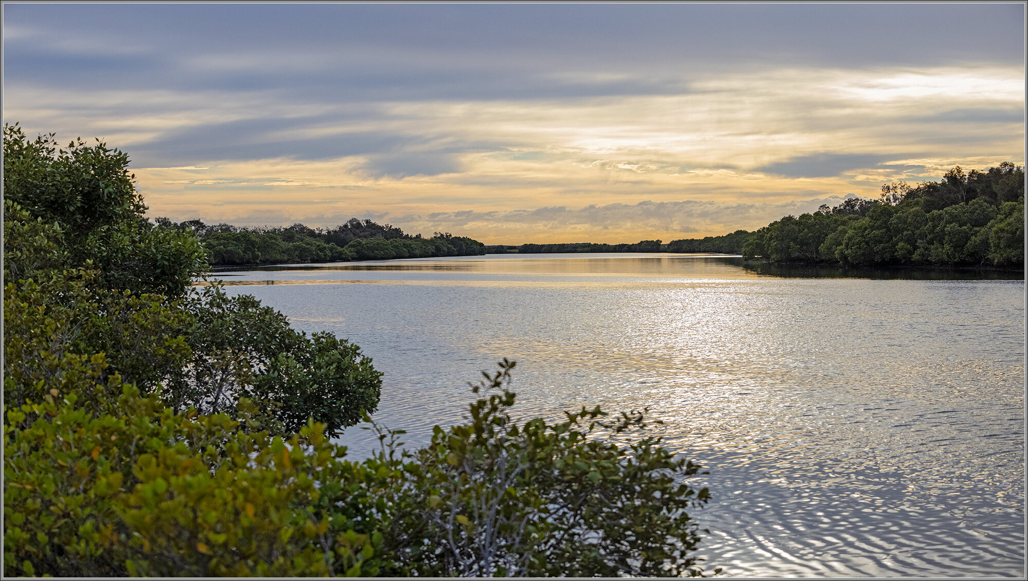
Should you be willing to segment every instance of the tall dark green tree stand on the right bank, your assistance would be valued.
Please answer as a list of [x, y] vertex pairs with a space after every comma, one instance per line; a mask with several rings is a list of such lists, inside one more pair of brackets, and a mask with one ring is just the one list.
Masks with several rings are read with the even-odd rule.
[[941, 182], [882, 186], [754, 232], [747, 259], [841, 266], [1024, 266], [1024, 168], [1009, 162]]

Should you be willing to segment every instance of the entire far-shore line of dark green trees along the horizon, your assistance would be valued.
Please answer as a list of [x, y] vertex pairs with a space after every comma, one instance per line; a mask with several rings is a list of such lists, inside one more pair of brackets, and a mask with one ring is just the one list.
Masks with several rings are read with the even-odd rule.
[[1000, 163], [985, 171], [959, 166], [939, 182], [882, 186], [880, 198], [848, 198], [834, 207], [786, 216], [754, 232], [683, 238], [663, 243], [592, 242], [485, 245], [435, 232], [431, 238], [400, 228], [351, 219], [336, 228], [313, 229], [209, 226], [198, 220], [174, 223], [191, 230], [209, 254], [209, 264], [266, 264], [392, 260], [486, 254], [683, 253], [741, 255], [777, 265], [840, 268], [957, 268], [1024, 270], [1024, 167]]

